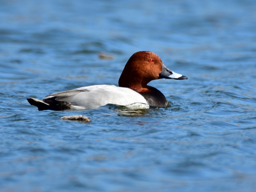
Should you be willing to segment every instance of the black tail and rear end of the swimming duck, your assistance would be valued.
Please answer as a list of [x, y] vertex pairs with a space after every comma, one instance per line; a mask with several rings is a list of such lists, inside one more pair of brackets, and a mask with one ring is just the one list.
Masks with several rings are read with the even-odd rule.
[[65, 109], [71, 109], [71, 105], [64, 101], [56, 101], [55, 98], [50, 100], [39, 100], [34, 98], [27, 99], [30, 105], [34, 105], [38, 108], [38, 111], [53, 110], [60, 111]]

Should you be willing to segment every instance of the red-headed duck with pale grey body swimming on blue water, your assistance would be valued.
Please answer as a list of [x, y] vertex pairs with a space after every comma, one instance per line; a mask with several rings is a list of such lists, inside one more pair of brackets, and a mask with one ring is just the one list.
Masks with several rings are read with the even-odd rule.
[[167, 68], [153, 52], [134, 53], [127, 61], [118, 85], [92, 85], [47, 95], [39, 100], [28, 98], [28, 102], [42, 110], [95, 109], [107, 104], [129, 108], [167, 107], [164, 94], [148, 83], [156, 79], [188, 79]]

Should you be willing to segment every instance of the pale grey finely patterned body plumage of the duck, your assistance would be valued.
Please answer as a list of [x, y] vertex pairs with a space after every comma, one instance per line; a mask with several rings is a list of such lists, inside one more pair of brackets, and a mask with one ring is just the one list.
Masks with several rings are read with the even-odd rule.
[[139, 93], [115, 85], [93, 85], [74, 90], [53, 93], [46, 100], [67, 102], [74, 109], [93, 109], [107, 104], [148, 108], [147, 101]]

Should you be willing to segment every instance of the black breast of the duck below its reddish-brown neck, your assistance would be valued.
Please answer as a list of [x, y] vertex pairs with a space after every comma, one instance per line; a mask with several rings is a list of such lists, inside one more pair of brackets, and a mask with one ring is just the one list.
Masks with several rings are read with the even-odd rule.
[[161, 93], [159, 90], [156, 88], [152, 87], [151, 89], [154, 92], [150, 93], [140, 93], [145, 100], [147, 101], [148, 105], [150, 107], [166, 107], [168, 105], [168, 102], [166, 98], [164, 97], [163, 93]]

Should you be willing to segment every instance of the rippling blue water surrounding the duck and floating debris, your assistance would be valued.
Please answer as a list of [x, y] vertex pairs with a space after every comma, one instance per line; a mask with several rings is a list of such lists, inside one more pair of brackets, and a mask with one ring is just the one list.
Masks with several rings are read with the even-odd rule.
[[[255, 1], [1, 1], [1, 191], [254, 191]], [[167, 108], [37, 111], [152, 51]], [[98, 54], [113, 55], [102, 60]], [[92, 122], [61, 120], [84, 115]]]

